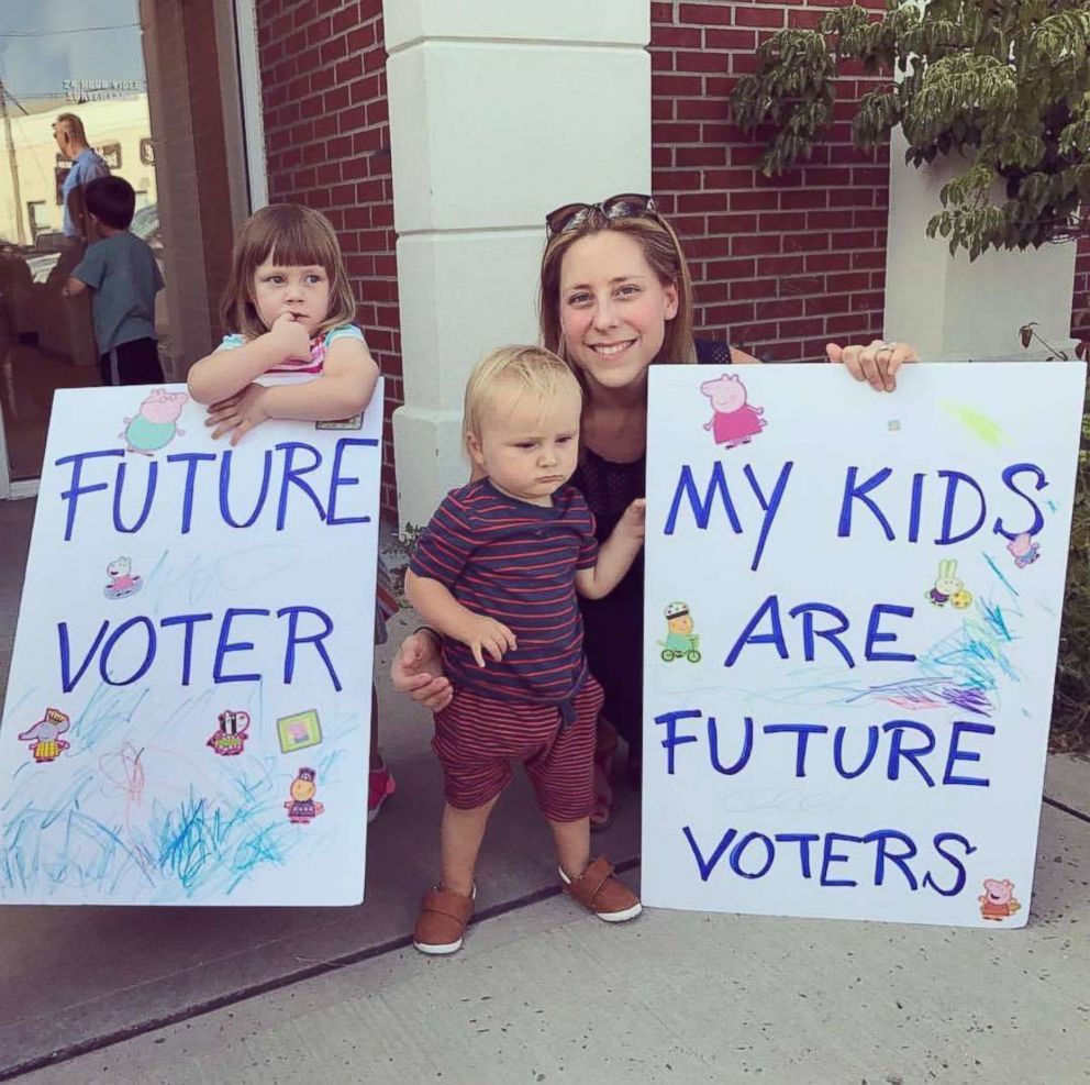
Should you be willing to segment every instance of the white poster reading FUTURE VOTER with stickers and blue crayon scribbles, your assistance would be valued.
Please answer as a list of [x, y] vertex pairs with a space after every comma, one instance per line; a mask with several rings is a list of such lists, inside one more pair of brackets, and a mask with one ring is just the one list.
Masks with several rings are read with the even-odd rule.
[[54, 399], [0, 726], [0, 903], [363, 899], [381, 392], [213, 441]]

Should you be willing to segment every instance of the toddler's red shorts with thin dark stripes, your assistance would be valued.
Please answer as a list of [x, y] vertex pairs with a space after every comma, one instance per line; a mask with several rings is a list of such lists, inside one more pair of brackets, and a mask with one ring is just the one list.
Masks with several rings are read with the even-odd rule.
[[602, 687], [590, 676], [576, 694], [576, 720], [560, 730], [555, 705], [516, 705], [456, 688], [435, 713], [432, 749], [451, 806], [472, 810], [494, 799], [521, 761], [549, 821], [578, 821], [594, 806], [594, 728]]

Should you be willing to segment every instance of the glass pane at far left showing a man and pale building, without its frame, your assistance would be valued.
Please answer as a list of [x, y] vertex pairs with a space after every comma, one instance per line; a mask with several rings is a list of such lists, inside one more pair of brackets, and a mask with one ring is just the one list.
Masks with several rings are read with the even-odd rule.
[[[101, 380], [89, 294], [62, 292], [87, 247], [69, 190], [127, 180], [145, 203], [132, 232], [163, 262], [136, 0], [5, 4], [0, 124], [0, 410], [18, 489], [41, 473], [53, 392]], [[162, 295], [154, 324], [169, 341]]]

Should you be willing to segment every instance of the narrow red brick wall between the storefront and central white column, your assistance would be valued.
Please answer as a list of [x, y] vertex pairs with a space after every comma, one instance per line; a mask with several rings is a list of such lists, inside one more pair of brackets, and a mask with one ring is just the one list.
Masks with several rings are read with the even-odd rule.
[[327, 215], [386, 377], [382, 509], [397, 506], [390, 416], [403, 401], [381, 0], [257, 0], [270, 202]]

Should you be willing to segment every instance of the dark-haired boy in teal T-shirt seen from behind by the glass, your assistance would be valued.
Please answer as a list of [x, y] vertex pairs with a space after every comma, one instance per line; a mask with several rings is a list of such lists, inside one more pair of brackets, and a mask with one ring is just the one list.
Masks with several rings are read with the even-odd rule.
[[64, 287], [67, 298], [91, 292], [91, 318], [103, 385], [163, 381], [155, 341], [155, 295], [163, 276], [147, 243], [129, 232], [136, 193], [123, 177], [84, 188], [90, 245]]

